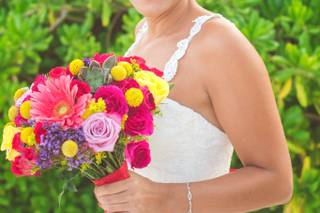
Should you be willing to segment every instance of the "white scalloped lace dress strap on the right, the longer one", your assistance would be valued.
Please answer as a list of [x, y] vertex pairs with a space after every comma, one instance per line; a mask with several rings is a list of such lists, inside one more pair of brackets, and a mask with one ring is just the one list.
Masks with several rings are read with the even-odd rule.
[[213, 17], [222, 17], [222, 15], [219, 13], [215, 13], [212, 15], [202, 15], [192, 21], [195, 24], [192, 26], [188, 37], [180, 40], [177, 43], [176, 51], [172, 54], [172, 56], [170, 57], [170, 59], [168, 60], [168, 62], [166, 63], [166, 65], [164, 67], [163, 77], [165, 80], [170, 81], [173, 79], [173, 77], [175, 76], [175, 74], [177, 72], [178, 60], [185, 55], [186, 50], [187, 50], [192, 38], [201, 30], [202, 25], [207, 20], [209, 20], [210, 18], [213, 18]]

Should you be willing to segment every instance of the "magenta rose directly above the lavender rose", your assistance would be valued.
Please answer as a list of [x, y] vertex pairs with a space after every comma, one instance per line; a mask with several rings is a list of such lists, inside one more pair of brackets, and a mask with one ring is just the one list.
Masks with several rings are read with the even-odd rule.
[[107, 112], [110, 114], [117, 113], [122, 117], [129, 110], [122, 90], [116, 86], [109, 85], [99, 87], [94, 94], [94, 98], [96, 100], [103, 98], [107, 105]]

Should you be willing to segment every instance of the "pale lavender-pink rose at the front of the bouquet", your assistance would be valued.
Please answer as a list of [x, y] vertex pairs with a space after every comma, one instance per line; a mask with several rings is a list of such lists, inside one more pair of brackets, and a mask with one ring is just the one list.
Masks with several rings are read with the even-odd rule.
[[103, 112], [95, 113], [84, 121], [84, 136], [95, 152], [112, 152], [121, 130], [120, 118]]

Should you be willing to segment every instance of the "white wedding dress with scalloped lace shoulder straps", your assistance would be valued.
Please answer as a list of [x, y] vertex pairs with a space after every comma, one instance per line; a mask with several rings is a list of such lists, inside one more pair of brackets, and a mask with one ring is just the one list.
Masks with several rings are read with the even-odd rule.
[[[164, 68], [164, 78], [170, 81], [177, 70], [178, 60], [185, 54], [192, 38], [210, 18], [219, 13], [195, 18], [187, 38], [177, 43], [177, 50]], [[136, 39], [125, 56], [148, 30], [144, 21]], [[212, 179], [229, 172], [233, 146], [228, 135], [211, 124], [200, 113], [166, 98], [160, 104], [162, 115], [154, 117], [154, 134], [150, 137], [151, 163], [134, 171], [155, 182], [186, 183]]]

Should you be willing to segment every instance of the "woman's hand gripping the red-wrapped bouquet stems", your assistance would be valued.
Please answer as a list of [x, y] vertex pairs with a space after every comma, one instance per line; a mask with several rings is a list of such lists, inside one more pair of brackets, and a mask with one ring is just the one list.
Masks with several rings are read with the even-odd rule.
[[167, 212], [168, 189], [134, 172], [126, 180], [96, 186], [94, 193], [101, 208], [108, 213], [157, 213]]

